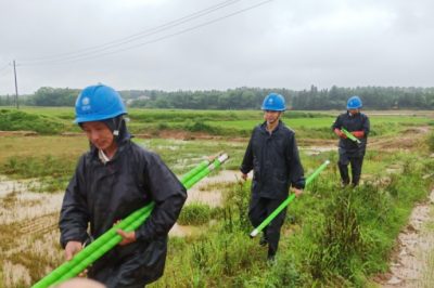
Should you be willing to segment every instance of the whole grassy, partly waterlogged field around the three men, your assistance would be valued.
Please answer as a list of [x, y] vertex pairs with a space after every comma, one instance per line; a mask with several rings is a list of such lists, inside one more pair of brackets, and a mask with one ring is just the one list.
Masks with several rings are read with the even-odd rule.
[[[12, 122], [14, 130], [41, 129], [37, 135], [0, 136], [0, 287], [28, 287], [63, 261], [56, 220], [63, 189], [88, 143], [84, 135], [62, 135], [79, 132], [71, 108], [0, 114], [0, 130], [11, 130], [5, 128]], [[332, 165], [290, 205], [278, 262], [268, 265], [266, 249], [248, 238], [250, 182], [240, 185], [235, 176], [260, 112], [132, 110], [131, 130], [145, 134], [135, 141], [158, 153], [178, 175], [219, 150], [231, 157], [224, 167], [231, 176], [214, 173], [218, 181], [189, 192], [199, 200], [182, 210], [165, 275], [150, 287], [374, 286], [375, 275], [388, 270], [412, 208], [434, 183], [434, 114], [372, 113], [362, 185], [355, 189], [340, 187], [330, 131], [336, 115], [285, 114], [306, 174], [326, 159]], [[200, 194], [220, 200], [209, 205]]]

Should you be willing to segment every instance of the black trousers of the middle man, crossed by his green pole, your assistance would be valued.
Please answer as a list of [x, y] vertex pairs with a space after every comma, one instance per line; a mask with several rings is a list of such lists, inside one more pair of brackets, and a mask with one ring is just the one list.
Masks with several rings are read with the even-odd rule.
[[[252, 197], [248, 219], [253, 226], [257, 227], [263, 221], [271, 214], [283, 200], [276, 200], [269, 198]], [[268, 241], [268, 256], [272, 257], [278, 251], [280, 230], [283, 225], [286, 215], [286, 209], [283, 209], [265, 228], [265, 237]]]

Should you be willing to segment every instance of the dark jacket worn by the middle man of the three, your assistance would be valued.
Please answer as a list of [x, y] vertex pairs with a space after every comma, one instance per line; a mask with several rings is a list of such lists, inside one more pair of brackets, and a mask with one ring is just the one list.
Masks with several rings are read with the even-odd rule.
[[264, 122], [253, 130], [240, 170], [246, 174], [253, 169], [253, 197], [284, 199], [291, 185], [305, 185], [295, 133], [282, 121], [271, 134], [266, 126]]

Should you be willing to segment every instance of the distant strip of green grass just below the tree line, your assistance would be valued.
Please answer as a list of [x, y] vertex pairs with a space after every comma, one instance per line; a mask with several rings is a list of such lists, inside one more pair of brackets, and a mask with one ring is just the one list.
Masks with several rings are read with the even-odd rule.
[[[24, 107], [1, 109], [0, 130], [34, 130], [41, 134], [77, 132], [74, 109], [68, 107]], [[299, 138], [332, 139], [330, 127], [340, 112], [286, 112], [283, 121]], [[367, 113], [369, 115], [369, 112]], [[129, 128], [133, 133], [157, 135], [164, 130], [201, 132], [226, 138], [248, 138], [253, 128], [263, 122], [260, 110], [176, 110], [130, 109]], [[414, 126], [432, 126], [430, 116], [372, 115], [371, 136], [396, 135]]]

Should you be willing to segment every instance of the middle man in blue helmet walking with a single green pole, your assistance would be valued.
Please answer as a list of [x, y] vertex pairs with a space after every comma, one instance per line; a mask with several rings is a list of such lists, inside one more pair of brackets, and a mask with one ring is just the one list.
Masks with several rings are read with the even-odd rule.
[[[291, 186], [296, 196], [305, 186], [295, 133], [280, 119], [286, 109], [284, 97], [268, 94], [261, 109], [265, 121], [254, 128], [240, 167], [244, 180], [253, 170], [248, 218], [255, 227], [286, 199]], [[271, 221], [259, 241], [261, 246], [268, 245], [268, 260], [272, 262], [285, 214], [283, 210]]]

